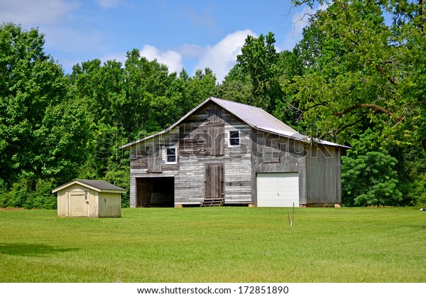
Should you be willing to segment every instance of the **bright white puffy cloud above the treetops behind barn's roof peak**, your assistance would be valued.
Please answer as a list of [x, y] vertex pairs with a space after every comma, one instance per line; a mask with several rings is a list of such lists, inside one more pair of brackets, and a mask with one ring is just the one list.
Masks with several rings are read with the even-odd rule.
[[218, 82], [224, 80], [225, 75], [234, 67], [236, 55], [241, 53], [246, 37], [256, 36], [250, 30], [236, 31], [226, 36], [216, 45], [208, 45], [200, 55], [195, 69], [210, 68], [217, 77]]

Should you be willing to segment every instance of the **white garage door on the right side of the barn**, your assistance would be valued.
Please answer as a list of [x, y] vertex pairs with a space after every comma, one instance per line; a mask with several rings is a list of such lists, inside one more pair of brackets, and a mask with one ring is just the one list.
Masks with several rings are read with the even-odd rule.
[[299, 206], [299, 173], [258, 173], [258, 206]]

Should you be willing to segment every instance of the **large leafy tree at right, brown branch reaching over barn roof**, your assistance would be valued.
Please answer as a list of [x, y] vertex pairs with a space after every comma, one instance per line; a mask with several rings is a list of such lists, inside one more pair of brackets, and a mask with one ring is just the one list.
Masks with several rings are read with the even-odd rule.
[[388, 144], [425, 144], [423, 23], [422, 1], [337, 0], [318, 11], [298, 47], [305, 72], [286, 86], [310, 133], [349, 141], [375, 126]]

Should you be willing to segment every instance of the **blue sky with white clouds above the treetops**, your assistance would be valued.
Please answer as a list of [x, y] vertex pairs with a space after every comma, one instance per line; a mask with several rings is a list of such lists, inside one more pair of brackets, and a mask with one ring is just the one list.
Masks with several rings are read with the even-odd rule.
[[278, 50], [292, 49], [306, 9], [290, 0], [0, 0], [0, 23], [38, 27], [65, 72], [95, 58], [124, 62], [137, 48], [170, 72], [209, 67], [221, 82], [247, 35], [271, 31]]

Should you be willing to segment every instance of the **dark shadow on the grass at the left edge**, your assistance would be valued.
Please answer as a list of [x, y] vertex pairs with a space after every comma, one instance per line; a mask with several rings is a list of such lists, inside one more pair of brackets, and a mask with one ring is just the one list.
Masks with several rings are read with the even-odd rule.
[[74, 252], [76, 248], [61, 249], [46, 244], [4, 244], [0, 243], [0, 254], [12, 256], [43, 257], [48, 254]]

